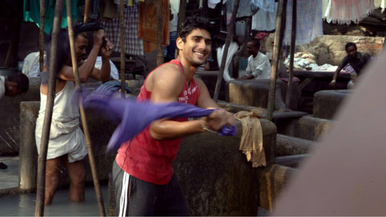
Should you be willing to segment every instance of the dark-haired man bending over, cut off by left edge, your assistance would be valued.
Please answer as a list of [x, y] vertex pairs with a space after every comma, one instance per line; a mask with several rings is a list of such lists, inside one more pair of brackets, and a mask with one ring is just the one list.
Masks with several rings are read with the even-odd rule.
[[22, 73], [15, 73], [11, 76], [0, 76], [0, 99], [4, 96], [15, 97], [27, 92], [29, 80]]

